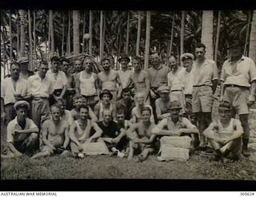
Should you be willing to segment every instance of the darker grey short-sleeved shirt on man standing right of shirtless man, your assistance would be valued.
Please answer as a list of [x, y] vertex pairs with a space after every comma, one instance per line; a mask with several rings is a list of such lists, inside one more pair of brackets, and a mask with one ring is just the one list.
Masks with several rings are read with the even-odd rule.
[[167, 74], [170, 72], [170, 68], [165, 65], [159, 65], [158, 69], [150, 67], [147, 70], [150, 77], [150, 86], [151, 87], [161, 87], [162, 85], [167, 85]]

